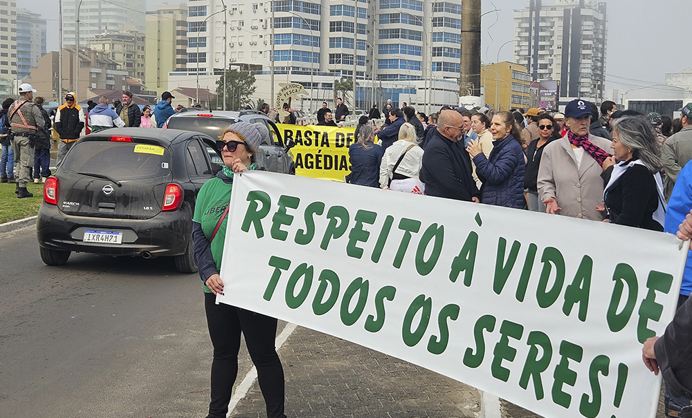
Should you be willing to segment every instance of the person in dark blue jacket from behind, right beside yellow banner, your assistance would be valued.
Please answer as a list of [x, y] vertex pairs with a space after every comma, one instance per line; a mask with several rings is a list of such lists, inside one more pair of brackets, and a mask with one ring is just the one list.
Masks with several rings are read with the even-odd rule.
[[379, 187], [379, 169], [385, 151], [381, 146], [373, 143], [374, 139], [375, 133], [372, 126], [363, 125], [358, 130], [358, 142], [349, 146], [348, 155], [351, 160], [349, 182], [351, 184]]

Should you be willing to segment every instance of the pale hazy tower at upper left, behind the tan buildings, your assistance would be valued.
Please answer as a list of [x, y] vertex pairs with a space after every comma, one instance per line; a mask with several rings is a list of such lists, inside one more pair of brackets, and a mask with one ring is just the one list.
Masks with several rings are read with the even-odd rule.
[[62, 0], [63, 45], [77, 44], [76, 24], [69, 22], [78, 20], [80, 46], [86, 46], [89, 39], [109, 31], [136, 30], [144, 35], [145, 11], [146, 0]]

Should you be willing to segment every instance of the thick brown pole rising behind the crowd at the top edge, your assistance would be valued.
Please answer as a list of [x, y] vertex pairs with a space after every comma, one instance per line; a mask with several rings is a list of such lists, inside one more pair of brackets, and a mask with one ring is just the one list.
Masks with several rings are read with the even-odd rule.
[[[480, 1], [462, 0], [460, 96], [480, 95], [480, 6]], [[472, 86], [471, 91], [467, 91], [468, 86]]]

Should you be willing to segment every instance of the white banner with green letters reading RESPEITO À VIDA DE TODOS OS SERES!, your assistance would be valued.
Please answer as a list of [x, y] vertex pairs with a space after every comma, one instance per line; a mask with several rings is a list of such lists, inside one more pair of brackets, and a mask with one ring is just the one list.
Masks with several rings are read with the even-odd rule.
[[641, 343], [675, 313], [671, 234], [268, 172], [235, 178], [222, 303], [545, 417], [654, 417]]

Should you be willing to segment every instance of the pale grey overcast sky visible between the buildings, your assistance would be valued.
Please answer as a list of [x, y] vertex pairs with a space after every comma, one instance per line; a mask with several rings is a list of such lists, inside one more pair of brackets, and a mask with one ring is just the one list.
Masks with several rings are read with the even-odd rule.
[[[457, 0], [460, 1], [460, 0]], [[499, 9], [483, 17], [481, 59], [484, 63], [511, 61], [513, 9], [527, 1], [482, 0], [483, 12]], [[551, 2], [552, 0], [544, 0]], [[692, 65], [687, 52], [689, 28], [687, 8], [680, 0], [605, 0], [608, 3], [608, 57], [605, 62], [606, 88], [631, 88], [664, 82], [666, 73]], [[149, 10], [164, 0], [147, 0]], [[170, 0], [173, 3], [175, 0]], [[48, 20], [48, 50], [57, 50], [57, 0], [22, 1], [21, 6]], [[65, 23], [67, 26], [69, 23]], [[498, 51], [499, 50], [499, 51]]]

